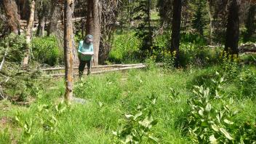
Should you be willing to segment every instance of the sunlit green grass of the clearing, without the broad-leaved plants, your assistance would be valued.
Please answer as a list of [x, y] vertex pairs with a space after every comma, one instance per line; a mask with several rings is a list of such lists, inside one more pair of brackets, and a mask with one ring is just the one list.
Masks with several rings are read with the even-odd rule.
[[[151, 68], [85, 77], [83, 82], [76, 81], [74, 95], [87, 100], [87, 104], [73, 104], [59, 114], [55, 105], [60, 102], [65, 86], [63, 80], [54, 81], [51, 88], [43, 92], [43, 97], [37, 98], [28, 108], [0, 101], [0, 119], [5, 116], [10, 119], [8, 126], [0, 123], [0, 127], [12, 129], [1, 130], [0, 143], [24, 143], [28, 140], [24, 128], [15, 121], [17, 111], [22, 115], [20, 121], [33, 119], [33, 137], [30, 143], [113, 143], [115, 137], [112, 131], [124, 124], [124, 114], [135, 114], [137, 105], [147, 106], [152, 95], [158, 97], [156, 105], [152, 107], [152, 116], [159, 121], [152, 128], [153, 135], [159, 138], [160, 143], [192, 143], [183, 132], [189, 113], [187, 100], [193, 96], [193, 85], [204, 83], [209, 79], [205, 76], [212, 76], [217, 69], [218, 67], [178, 69], [164, 73], [161, 68]], [[179, 95], [173, 96], [171, 89], [179, 92]], [[232, 92], [234, 89], [236, 84], [225, 81], [225, 92]], [[248, 119], [255, 121], [255, 99], [236, 99], [236, 95], [231, 97], [234, 100], [232, 107], [239, 109], [239, 114], [233, 121], [239, 124]], [[224, 100], [228, 102], [231, 97]], [[38, 112], [39, 105], [50, 103], [52, 106], [49, 111]], [[56, 132], [45, 131], [39, 120], [41, 117], [50, 119], [51, 116], [57, 119]]]

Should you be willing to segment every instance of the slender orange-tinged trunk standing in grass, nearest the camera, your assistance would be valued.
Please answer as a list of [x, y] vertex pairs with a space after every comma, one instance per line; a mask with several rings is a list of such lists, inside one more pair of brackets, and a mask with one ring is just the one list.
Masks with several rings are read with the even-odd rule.
[[64, 5], [64, 56], [65, 56], [65, 102], [73, 97], [73, 0], [65, 0]]

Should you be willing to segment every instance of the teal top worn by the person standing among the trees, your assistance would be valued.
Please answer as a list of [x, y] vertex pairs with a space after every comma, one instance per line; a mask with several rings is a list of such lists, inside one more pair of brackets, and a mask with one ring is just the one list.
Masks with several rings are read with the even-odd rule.
[[93, 52], [93, 44], [87, 44], [79, 41], [79, 60], [92, 60], [91, 55], [81, 55], [81, 52]]

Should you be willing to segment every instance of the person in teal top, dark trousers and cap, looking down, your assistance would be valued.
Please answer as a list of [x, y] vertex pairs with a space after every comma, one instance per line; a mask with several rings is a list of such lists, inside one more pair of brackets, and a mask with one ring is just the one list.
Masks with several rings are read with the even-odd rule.
[[88, 34], [84, 41], [79, 41], [79, 79], [83, 76], [84, 67], [87, 65], [87, 75], [91, 73], [93, 53], [93, 36]]

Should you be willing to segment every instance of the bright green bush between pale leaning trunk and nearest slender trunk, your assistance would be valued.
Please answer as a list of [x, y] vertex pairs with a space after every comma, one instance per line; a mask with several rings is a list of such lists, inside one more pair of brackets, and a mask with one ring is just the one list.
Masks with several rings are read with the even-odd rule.
[[63, 49], [60, 49], [55, 37], [35, 38], [32, 41], [33, 59], [39, 63], [57, 65], [63, 61]]

